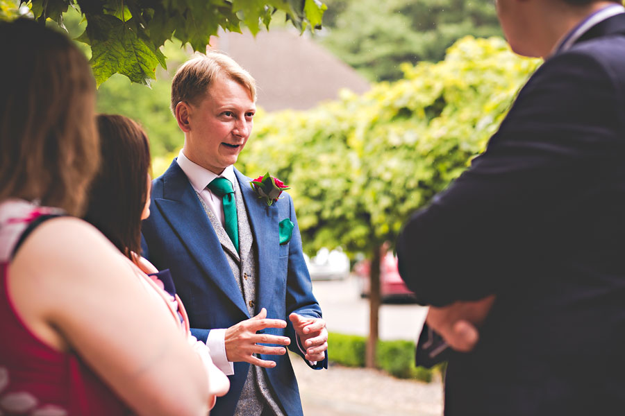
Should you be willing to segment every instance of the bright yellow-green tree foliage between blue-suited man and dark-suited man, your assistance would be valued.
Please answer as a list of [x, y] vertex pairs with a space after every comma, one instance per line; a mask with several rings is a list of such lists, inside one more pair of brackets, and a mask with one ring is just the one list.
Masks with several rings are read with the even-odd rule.
[[306, 112], [256, 117], [239, 168], [288, 184], [309, 253], [395, 241], [416, 209], [467, 168], [537, 66], [500, 38], [467, 37], [444, 61]]

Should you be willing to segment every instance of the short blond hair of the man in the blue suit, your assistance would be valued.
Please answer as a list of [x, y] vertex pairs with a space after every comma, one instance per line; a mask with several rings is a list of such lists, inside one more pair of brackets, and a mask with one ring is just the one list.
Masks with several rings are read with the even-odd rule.
[[197, 99], [208, 91], [215, 77], [223, 74], [249, 89], [256, 101], [256, 81], [245, 69], [224, 53], [210, 51], [204, 55], [196, 53], [193, 58], [178, 68], [172, 80], [172, 112], [181, 101], [197, 104]]

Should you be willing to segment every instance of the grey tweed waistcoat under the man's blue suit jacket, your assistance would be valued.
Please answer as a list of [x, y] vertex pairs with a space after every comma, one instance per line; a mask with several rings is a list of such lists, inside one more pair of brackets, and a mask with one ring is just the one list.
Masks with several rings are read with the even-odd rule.
[[[226, 230], [222, 226], [222, 223], [217, 220], [213, 211], [206, 206], [206, 203], [204, 203], [199, 195], [198, 198], [204, 211], [206, 211], [210, 223], [213, 225], [213, 229], [215, 229], [215, 234], [217, 234], [219, 242], [222, 243], [222, 249], [224, 250], [224, 254], [226, 254], [226, 259], [228, 259], [232, 274], [245, 300], [247, 311], [250, 316], [254, 316], [256, 315], [257, 303], [256, 253], [253, 250], [253, 236], [238, 180], [235, 180], [233, 187], [237, 204], [240, 253], [235, 250], [230, 237], [226, 234]], [[223, 278], [227, 279], [228, 277], [224, 276]], [[235, 409], [235, 416], [260, 415], [267, 406], [272, 410], [274, 415], [284, 416], [280, 405], [274, 399], [274, 395], [272, 395], [271, 389], [269, 388], [269, 381], [267, 380], [265, 370], [262, 367], [250, 365], [247, 379], [245, 380]]]

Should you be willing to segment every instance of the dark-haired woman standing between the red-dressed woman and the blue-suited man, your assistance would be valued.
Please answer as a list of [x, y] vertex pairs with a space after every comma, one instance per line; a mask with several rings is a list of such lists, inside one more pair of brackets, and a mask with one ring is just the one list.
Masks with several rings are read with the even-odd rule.
[[[174, 287], [169, 270], [158, 270], [138, 255], [141, 220], [150, 215], [150, 149], [143, 129], [120, 115], [97, 116], [101, 168], [90, 185], [85, 220], [97, 227], [131, 263], [135, 275], [156, 300], [167, 304], [173, 318], [195, 352], [209, 379], [211, 406], [215, 395], [228, 392], [226, 374], [213, 364], [205, 343], [191, 335], [189, 318]], [[165, 302], [163, 302], [165, 301]]]

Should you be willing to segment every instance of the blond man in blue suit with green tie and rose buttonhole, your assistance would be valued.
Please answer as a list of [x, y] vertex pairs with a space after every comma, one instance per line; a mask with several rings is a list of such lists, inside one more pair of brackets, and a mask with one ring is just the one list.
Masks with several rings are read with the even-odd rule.
[[302, 415], [283, 346], [310, 367], [327, 368], [328, 332], [292, 199], [259, 198], [233, 167], [255, 101], [253, 78], [226, 55], [198, 55], [178, 69], [172, 111], [185, 144], [153, 181], [144, 256], [171, 270], [192, 333], [230, 378], [213, 413]]

